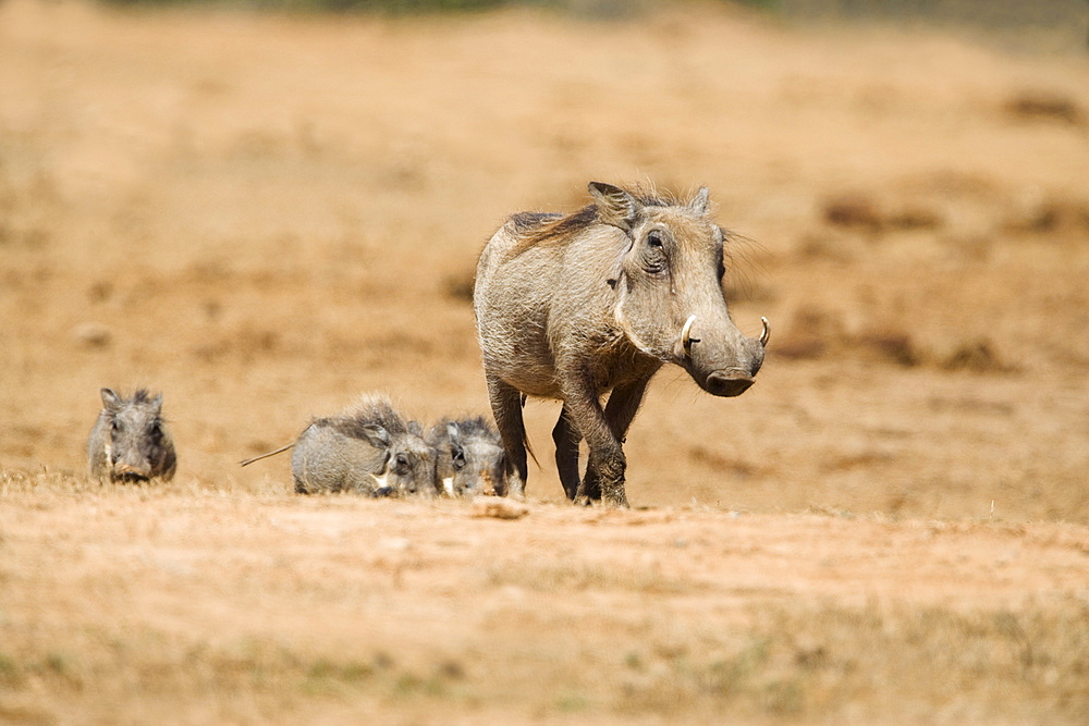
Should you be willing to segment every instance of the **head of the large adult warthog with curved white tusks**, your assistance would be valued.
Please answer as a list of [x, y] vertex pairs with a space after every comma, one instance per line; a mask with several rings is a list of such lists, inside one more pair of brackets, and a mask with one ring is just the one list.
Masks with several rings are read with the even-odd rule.
[[610, 184], [589, 186], [598, 220], [626, 235], [609, 284], [616, 324], [643, 353], [683, 367], [708, 393], [744, 393], [763, 364], [759, 340], [737, 330], [722, 292], [725, 234], [708, 216], [707, 187], [685, 205], [645, 204]]

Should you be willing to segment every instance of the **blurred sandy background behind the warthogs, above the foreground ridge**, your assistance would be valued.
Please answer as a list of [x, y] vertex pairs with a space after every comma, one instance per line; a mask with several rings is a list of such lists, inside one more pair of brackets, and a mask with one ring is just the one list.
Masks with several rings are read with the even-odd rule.
[[7, 0], [0, 49], [8, 472], [81, 473], [107, 385], [270, 494], [363, 391], [485, 413], [505, 217], [706, 184], [770, 353], [663, 371], [633, 504], [1089, 521], [1089, 3]]

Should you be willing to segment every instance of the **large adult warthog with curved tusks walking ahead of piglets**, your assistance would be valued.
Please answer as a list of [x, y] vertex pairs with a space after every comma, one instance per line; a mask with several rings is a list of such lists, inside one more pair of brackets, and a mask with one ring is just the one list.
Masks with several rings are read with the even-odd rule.
[[510, 491], [522, 495], [527, 473], [522, 404], [541, 396], [563, 402], [552, 439], [567, 497], [626, 506], [623, 442], [650, 379], [672, 362], [708, 393], [739, 395], [769, 328], [749, 339], [730, 319], [726, 235], [706, 187], [684, 204], [599, 182], [589, 190], [592, 204], [572, 214], [511, 217], [480, 255], [473, 302]]

